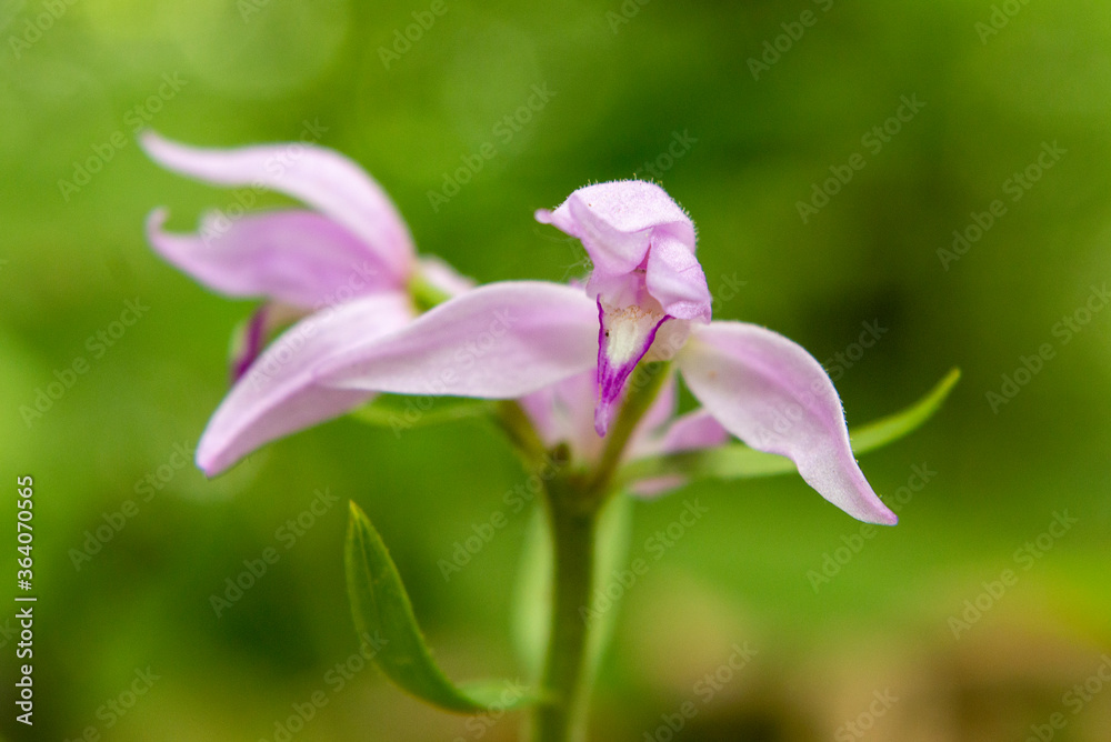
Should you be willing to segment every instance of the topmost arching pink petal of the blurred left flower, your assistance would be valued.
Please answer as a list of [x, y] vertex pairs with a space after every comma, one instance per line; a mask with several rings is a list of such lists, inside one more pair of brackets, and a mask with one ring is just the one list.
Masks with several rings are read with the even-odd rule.
[[412, 237], [397, 208], [381, 186], [338, 152], [301, 142], [200, 149], [149, 130], [139, 141], [168, 169], [220, 186], [269, 188], [320, 210], [362, 240], [398, 282], [412, 268]]

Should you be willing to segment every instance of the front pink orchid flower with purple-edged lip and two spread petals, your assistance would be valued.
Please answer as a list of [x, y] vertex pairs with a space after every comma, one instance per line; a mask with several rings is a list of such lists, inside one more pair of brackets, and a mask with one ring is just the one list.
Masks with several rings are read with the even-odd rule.
[[[585, 292], [492, 283], [386, 335], [346, 348], [316, 338], [313, 388], [519, 399], [597, 369], [591, 397], [595, 433], [603, 434], [635, 364], [671, 360], [729, 433], [791, 459], [803, 480], [853, 518], [897, 522], [857, 465], [841, 400], [821, 364], [764, 328], [709, 321], [694, 227], [663, 189], [589, 186], [537, 217], [582, 241], [594, 264]], [[264, 421], [271, 402], [252, 400], [242, 419]]]

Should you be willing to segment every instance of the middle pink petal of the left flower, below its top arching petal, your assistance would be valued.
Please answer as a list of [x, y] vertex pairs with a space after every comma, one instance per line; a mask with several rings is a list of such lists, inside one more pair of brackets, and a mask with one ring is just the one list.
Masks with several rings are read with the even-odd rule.
[[196, 234], [162, 231], [166, 209], [147, 220], [159, 254], [232, 297], [268, 297], [313, 309], [399, 284], [346, 228], [312, 211], [272, 211], [228, 222], [210, 214]]

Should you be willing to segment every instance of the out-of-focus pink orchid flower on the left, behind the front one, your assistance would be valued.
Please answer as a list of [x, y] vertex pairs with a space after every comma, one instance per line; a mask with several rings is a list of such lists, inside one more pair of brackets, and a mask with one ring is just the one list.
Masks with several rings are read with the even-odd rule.
[[[197, 149], [150, 131], [140, 141], [174, 172], [253, 192], [270, 189], [308, 207], [246, 213], [232, 204], [208, 213], [192, 234], [164, 231], [166, 209], [148, 219], [148, 238], [166, 260], [220, 293], [266, 299], [233, 359], [236, 384], [198, 444], [198, 464], [209, 475], [263, 443], [373, 397], [314, 387], [311, 370], [319, 357], [312, 353], [412, 321], [410, 285], [418, 277], [448, 295], [470, 287], [447, 264], [418, 258], [409, 228], [382, 188], [332, 150], [300, 142]], [[252, 191], [243, 192], [253, 200]], [[263, 352], [269, 331], [297, 319]], [[311, 338], [317, 341], [308, 343]], [[267, 412], [244, 421], [244, 398], [268, 400]]]

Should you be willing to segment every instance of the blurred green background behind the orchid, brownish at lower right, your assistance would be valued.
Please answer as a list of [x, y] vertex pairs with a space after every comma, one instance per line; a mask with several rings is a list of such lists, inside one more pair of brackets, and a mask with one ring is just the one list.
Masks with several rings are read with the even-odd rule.
[[[213, 481], [177, 453], [224, 394], [228, 338], [252, 304], [148, 248], [151, 209], [170, 207], [183, 231], [234, 201], [156, 167], [136, 131], [223, 147], [309, 126], [382, 183], [422, 252], [482, 282], [581, 274], [580, 249], [533, 210], [587, 182], [654, 178], [698, 224], [715, 317], [771, 327], [827, 362], [850, 424], [963, 370], [924, 429], [862, 459], [889, 502], [915, 467], [932, 472], [900, 524], [871, 539], [797, 475], [638, 503], [633, 555], [685, 500], [708, 514], [622, 599], [591, 739], [1108, 739], [1107, 4], [432, 10], [0, 2], [3, 594], [18, 592], [14, 480], [30, 474], [40, 599], [33, 730], [13, 719], [14, 610], [0, 618], [0, 734], [284, 739], [281, 725], [323, 692], [290, 739], [518, 739], [516, 716], [469, 722], [376, 670], [342, 684], [336, 673], [358, 650], [341, 563], [354, 499], [449, 674], [523, 676], [509, 615], [526, 514], [450, 581], [438, 568], [524, 478], [491, 427], [396, 435], [344, 419]], [[524, 117], [534, 86], [550, 94]], [[900, 121], [904, 97], [923, 106]], [[528, 120], [500, 126], [514, 116]], [[496, 156], [433, 204], [429, 192], [488, 142]], [[1038, 164], [1043, 146], [1058, 154]], [[847, 170], [848, 182], [825, 182]], [[823, 200], [815, 187], [837, 192]], [[1005, 212], [972, 241], [997, 199]], [[817, 212], [803, 219], [799, 202]], [[954, 230], [970, 239], [958, 260], [939, 254]], [[129, 301], [149, 310], [98, 341]], [[864, 323], [885, 332], [861, 350]], [[988, 393], [1014, 391], [1003, 375], [1044, 344], [1052, 358], [993, 405]], [[21, 412], [79, 357], [87, 372], [49, 410]], [[290, 543], [280, 529], [317, 491], [338, 504]], [[87, 532], [119, 522], [128, 500], [122, 530], [76, 564]], [[210, 596], [269, 547], [280, 560], [217, 616]], [[1005, 570], [1013, 584], [1000, 590]], [[737, 671], [734, 646], [754, 650]]]

